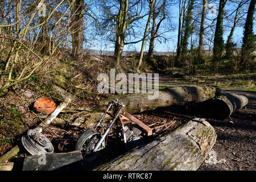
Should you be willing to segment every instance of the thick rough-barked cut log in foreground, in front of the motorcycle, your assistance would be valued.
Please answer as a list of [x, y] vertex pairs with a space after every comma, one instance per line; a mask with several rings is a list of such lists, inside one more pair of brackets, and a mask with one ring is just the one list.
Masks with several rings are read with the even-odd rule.
[[196, 170], [207, 158], [216, 138], [205, 119], [195, 118], [94, 170]]

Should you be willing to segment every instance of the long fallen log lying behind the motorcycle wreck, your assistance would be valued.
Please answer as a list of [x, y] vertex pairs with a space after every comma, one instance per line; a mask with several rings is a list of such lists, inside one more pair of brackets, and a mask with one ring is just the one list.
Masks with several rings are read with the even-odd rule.
[[[215, 86], [179, 86], [175, 88], [166, 88], [159, 90], [158, 97], [155, 100], [150, 100], [148, 96], [152, 96], [154, 93], [135, 93], [125, 94], [106, 98], [99, 101], [96, 105], [86, 105], [80, 107], [69, 106], [63, 109], [61, 112], [80, 111], [82, 112], [81, 121], [85, 121], [80, 127], [89, 126], [91, 123], [98, 121], [104, 113], [109, 101], [113, 98], [118, 98], [119, 101], [125, 104], [125, 109], [130, 114], [141, 113], [146, 110], [154, 110], [157, 107], [167, 107], [171, 105], [185, 105], [188, 102], [203, 102], [214, 98], [216, 93], [220, 90]], [[77, 117], [77, 113], [74, 114], [74, 119]], [[106, 117], [108, 119], [108, 117]]]

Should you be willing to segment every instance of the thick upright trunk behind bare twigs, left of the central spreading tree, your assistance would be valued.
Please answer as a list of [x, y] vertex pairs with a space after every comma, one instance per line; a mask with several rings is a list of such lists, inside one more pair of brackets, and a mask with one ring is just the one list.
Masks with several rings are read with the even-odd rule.
[[72, 55], [78, 61], [82, 57], [82, 44], [84, 42], [83, 24], [84, 24], [84, 0], [72, 0]]

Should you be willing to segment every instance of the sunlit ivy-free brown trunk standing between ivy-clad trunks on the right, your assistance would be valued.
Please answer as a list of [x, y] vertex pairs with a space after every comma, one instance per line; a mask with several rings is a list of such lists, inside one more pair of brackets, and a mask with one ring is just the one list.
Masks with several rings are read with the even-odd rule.
[[204, 23], [205, 23], [205, 16], [207, 11], [207, 0], [203, 0], [203, 10], [202, 10], [202, 16], [201, 16], [201, 25], [200, 25], [200, 32], [199, 32], [199, 46], [198, 46], [198, 52], [197, 57], [201, 59], [203, 56], [204, 51]]

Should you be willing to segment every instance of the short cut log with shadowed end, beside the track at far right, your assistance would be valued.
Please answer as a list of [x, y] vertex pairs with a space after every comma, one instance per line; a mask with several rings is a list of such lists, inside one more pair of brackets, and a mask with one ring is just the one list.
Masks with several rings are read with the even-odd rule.
[[245, 95], [222, 93], [220, 96], [205, 102], [204, 114], [211, 118], [225, 119], [235, 111], [241, 110], [248, 102], [249, 100]]

